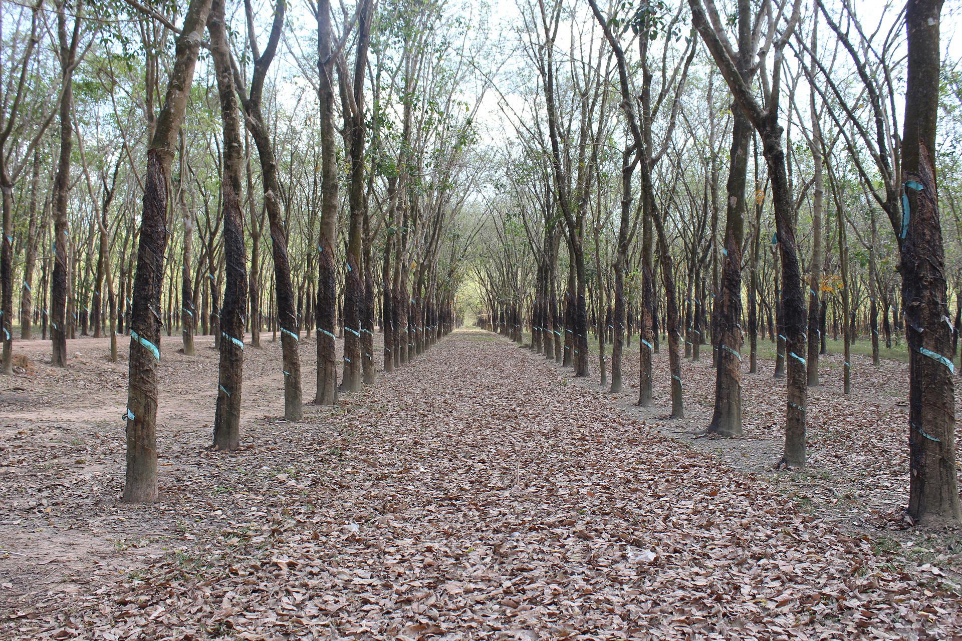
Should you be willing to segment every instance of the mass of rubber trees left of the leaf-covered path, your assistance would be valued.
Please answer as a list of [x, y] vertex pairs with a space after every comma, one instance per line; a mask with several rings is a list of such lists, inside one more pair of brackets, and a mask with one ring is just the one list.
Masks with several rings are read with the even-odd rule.
[[162, 333], [188, 356], [213, 334], [232, 450], [265, 327], [297, 421], [312, 333], [313, 402], [334, 405], [455, 323], [485, 35], [440, 2], [342, 9], [0, 5], [4, 371], [14, 321], [63, 367], [67, 337], [108, 333], [115, 360], [129, 334], [125, 501], [158, 493]]

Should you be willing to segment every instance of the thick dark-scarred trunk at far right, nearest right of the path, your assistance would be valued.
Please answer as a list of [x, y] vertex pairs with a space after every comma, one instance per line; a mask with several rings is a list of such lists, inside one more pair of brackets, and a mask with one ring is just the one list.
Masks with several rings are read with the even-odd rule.
[[909, 0], [902, 135], [902, 277], [909, 350], [909, 504], [917, 523], [962, 520], [945, 250], [935, 179], [942, 0]]

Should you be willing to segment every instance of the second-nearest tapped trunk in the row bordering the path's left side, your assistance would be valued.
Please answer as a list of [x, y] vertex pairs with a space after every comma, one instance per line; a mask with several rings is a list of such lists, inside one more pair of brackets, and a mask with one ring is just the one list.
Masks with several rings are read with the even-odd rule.
[[220, 118], [223, 121], [223, 179], [221, 217], [224, 238], [224, 300], [220, 306], [220, 367], [214, 415], [214, 449], [241, 446], [241, 387], [243, 383], [244, 308], [247, 303], [247, 255], [241, 212], [243, 141], [241, 112], [231, 71], [230, 48], [224, 24], [224, 0], [213, 0], [207, 28], [217, 76]]

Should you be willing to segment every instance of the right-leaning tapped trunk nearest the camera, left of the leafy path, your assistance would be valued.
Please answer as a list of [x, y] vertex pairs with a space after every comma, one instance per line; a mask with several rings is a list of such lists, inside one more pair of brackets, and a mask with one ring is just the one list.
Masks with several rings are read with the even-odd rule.
[[174, 144], [187, 108], [197, 50], [210, 9], [211, 0], [190, 2], [183, 35], [177, 37], [164, 108], [158, 115], [147, 150], [127, 395], [127, 471], [123, 500], [129, 503], [157, 499], [157, 364], [161, 354], [161, 319], [157, 308], [161, 302], [167, 240], [167, 186]]

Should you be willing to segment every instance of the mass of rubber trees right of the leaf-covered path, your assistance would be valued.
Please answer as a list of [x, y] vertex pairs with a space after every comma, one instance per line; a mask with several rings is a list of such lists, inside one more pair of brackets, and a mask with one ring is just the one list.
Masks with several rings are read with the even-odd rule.
[[878, 364], [879, 341], [903, 329], [908, 514], [962, 518], [951, 376], [962, 103], [955, 62], [940, 60], [941, 2], [910, 0], [871, 24], [853, 3], [823, 0], [531, 0], [520, 11], [529, 89], [503, 108], [517, 140], [472, 258], [483, 324], [517, 340], [529, 327], [532, 349], [576, 376], [589, 375], [594, 329], [612, 391], [637, 333], [643, 407], [664, 334], [675, 417], [683, 359], [710, 344], [706, 430], [724, 436], [742, 433], [745, 338], [753, 373], [767, 330], [787, 379], [788, 466], [805, 464], [826, 334], [843, 335], [848, 393], [856, 337]]

